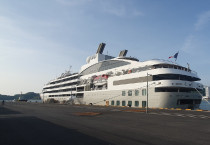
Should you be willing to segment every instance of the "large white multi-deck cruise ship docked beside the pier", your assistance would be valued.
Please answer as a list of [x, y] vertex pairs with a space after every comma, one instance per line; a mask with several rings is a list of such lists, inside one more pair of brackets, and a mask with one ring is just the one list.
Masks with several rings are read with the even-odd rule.
[[75, 104], [149, 108], [199, 108], [203, 85], [195, 71], [161, 59], [139, 61], [103, 54], [86, 59], [78, 73], [64, 73], [43, 87], [44, 102], [73, 101]]

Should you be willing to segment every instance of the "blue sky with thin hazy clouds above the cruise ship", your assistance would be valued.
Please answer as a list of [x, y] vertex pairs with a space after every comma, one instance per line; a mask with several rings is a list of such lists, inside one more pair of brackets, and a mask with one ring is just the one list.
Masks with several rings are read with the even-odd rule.
[[190, 64], [210, 86], [209, 0], [0, 0], [0, 94], [41, 92], [104, 53]]

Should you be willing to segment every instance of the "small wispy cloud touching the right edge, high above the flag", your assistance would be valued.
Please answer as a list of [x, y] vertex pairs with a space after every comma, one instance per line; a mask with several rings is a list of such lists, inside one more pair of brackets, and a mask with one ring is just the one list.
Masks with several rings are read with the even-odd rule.
[[199, 17], [197, 22], [195, 23], [195, 30], [201, 30], [205, 27], [207, 23], [210, 22], [210, 11], [206, 11], [205, 13], [202, 13]]

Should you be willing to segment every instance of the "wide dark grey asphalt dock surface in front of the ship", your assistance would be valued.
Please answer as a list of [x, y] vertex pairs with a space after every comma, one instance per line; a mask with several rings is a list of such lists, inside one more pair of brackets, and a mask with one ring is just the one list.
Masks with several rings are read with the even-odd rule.
[[209, 145], [210, 112], [0, 105], [0, 145]]

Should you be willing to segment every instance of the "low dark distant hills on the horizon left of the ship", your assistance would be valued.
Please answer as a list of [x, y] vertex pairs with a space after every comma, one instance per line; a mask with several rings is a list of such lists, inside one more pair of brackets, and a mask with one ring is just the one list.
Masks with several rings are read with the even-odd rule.
[[39, 100], [40, 98], [40, 94], [38, 93], [34, 93], [34, 92], [28, 92], [26, 94], [16, 94], [14, 96], [8, 96], [8, 95], [1, 95], [0, 94], [0, 100], [18, 100], [19, 97], [21, 97], [20, 99], [24, 99], [24, 100]]

